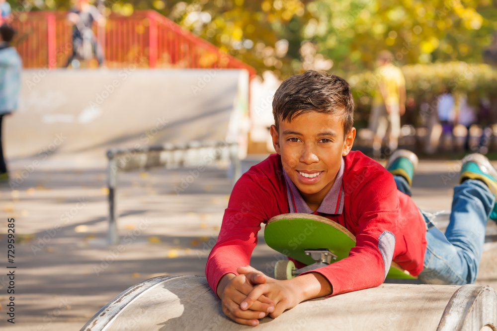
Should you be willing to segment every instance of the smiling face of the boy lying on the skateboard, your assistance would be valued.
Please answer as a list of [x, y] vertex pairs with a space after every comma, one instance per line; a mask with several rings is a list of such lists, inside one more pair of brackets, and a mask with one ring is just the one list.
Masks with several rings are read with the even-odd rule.
[[279, 122], [278, 131], [271, 126], [271, 136], [283, 169], [307, 204], [316, 210], [335, 181], [342, 156], [352, 148], [355, 128], [344, 138], [339, 116], [308, 112], [292, 122]]

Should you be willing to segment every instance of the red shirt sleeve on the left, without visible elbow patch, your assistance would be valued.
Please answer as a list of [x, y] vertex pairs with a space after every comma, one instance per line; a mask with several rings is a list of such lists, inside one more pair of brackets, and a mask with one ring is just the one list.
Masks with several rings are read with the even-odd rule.
[[217, 242], [205, 266], [205, 275], [214, 293], [225, 274], [238, 274], [239, 266], [250, 264], [260, 223], [267, 221], [270, 205], [274, 204], [271, 198], [274, 193], [270, 195], [270, 188], [265, 188], [267, 182], [245, 173], [233, 188]]

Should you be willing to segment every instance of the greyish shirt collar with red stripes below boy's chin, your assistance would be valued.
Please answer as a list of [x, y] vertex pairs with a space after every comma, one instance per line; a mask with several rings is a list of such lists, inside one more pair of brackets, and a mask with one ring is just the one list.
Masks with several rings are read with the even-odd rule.
[[[317, 212], [323, 214], [341, 214], [343, 211], [343, 169], [345, 168], [345, 162], [343, 161], [343, 157], [340, 164], [340, 169], [336, 174], [336, 179], [333, 185], [331, 186], [330, 191], [326, 194], [325, 199], [321, 202]], [[288, 198], [288, 205], [290, 206], [290, 212], [302, 212], [306, 214], [314, 213], [312, 209], [307, 205], [306, 201], [300, 195], [299, 190], [293, 184], [290, 177], [288, 177], [285, 170], [283, 170], [283, 174], [286, 180], [286, 193]]]

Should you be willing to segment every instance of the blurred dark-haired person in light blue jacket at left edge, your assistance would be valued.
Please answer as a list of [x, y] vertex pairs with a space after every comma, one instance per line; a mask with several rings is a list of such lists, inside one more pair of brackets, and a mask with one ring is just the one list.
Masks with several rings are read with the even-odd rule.
[[14, 34], [10, 25], [3, 23], [0, 26], [0, 181], [8, 180], [1, 139], [2, 120], [5, 115], [17, 109], [21, 87], [21, 58], [9, 44]]

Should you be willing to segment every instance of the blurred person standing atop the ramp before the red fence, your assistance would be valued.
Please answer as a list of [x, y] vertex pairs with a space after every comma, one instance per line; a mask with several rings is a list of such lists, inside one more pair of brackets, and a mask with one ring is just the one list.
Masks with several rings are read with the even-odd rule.
[[105, 25], [105, 17], [88, 0], [75, 0], [75, 5], [71, 8], [67, 19], [73, 23], [73, 54], [67, 59], [65, 67], [73, 65], [79, 67], [80, 60], [90, 60], [96, 56], [98, 66], [103, 64], [103, 51], [98, 40], [91, 30], [94, 21], [99, 26]]

